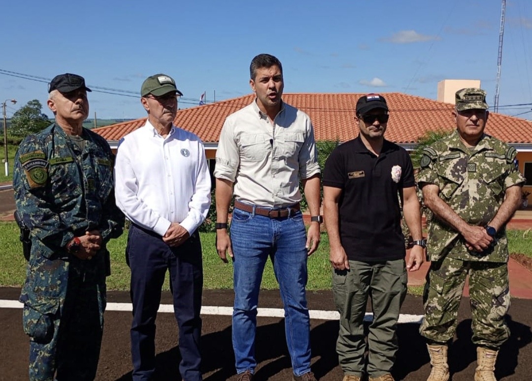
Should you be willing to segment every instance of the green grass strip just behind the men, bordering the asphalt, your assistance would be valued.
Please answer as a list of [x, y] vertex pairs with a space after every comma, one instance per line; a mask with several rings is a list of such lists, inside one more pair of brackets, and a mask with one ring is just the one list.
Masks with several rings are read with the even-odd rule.
[[[510, 253], [522, 253], [532, 257], [532, 231], [509, 230]], [[214, 247], [215, 233], [201, 233], [203, 247], [203, 273], [205, 289], [232, 289], [232, 264], [223, 263]], [[127, 235], [113, 239], [107, 245], [111, 252], [111, 276], [107, 278], [110, 290], [129, 290], [129, 268], [124, 248]], [[326, 233], [316, 253], [309, 257], [309, 282], [307, 290], [331, 289], [329, 240]], [[0, 286], [20, 287], [24, 282], [26, 260], [22, 256], [19, 229], [14, 222], [0, 222]], [[271, 261], [267, 262], [262, 279], [262, 289], [278, 289]], [[164, 284], [168, 290], [168, 281]], [[409, 287], [409, 292], [420, 295], [422, 288]]]

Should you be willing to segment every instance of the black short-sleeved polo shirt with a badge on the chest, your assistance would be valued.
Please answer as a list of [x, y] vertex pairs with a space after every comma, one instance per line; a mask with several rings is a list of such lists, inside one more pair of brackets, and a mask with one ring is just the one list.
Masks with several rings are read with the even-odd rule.
[[404, 258], [399, 198], [404, 188], [415, 186], [408, 152], [385, 140], [377, 157], [359, 135], [331, 152], [323, 169], [323, 185], [342, 189], [339, 232], [349, 259]]

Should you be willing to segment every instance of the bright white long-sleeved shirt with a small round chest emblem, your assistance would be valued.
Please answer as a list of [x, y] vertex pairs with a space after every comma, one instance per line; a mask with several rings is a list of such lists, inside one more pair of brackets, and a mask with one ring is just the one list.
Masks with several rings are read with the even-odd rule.
[[120, 142], [114, 168], [117, 205], [139, 226], [163, 236], [171, 222], [190, 235], [211, 205], [211, 177], [203, 143], [172, 125], [162, 137], [146, 125]]

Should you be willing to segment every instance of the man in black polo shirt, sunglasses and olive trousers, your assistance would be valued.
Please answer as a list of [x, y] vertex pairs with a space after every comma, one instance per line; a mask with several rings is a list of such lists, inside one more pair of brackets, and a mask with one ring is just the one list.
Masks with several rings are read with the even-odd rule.
[[[323, 209], [330, 242], [332, 290], [340, 313], [336, 350], [345, 377], [393, 381], [396, 325], [406, 295], [406, 270], [423, 262], [419, 201], [412, 162], [400, 146], [385, 140], [388, 106], [368, 94], [356, 103], [360, 134], [338, 146], [323, 171]], [[405, 263], [400, 200], [414, 246]], [[363, 319], [371, 295], [373, 323], [364, 369]]]

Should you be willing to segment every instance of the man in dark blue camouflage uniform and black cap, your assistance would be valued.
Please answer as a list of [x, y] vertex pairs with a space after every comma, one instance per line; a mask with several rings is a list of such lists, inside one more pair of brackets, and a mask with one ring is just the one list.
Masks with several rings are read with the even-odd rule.
[[31, 230], [20, 301], [30, 336], [30, 380], [92, 380], [103, 332], [110, 238], [123, 215], [114, 203], [113, 154], [82, 127], [85, 80], [61, 74], [48, 85], [55, 123], [24, 138], [15, 156], [16, 208]]

